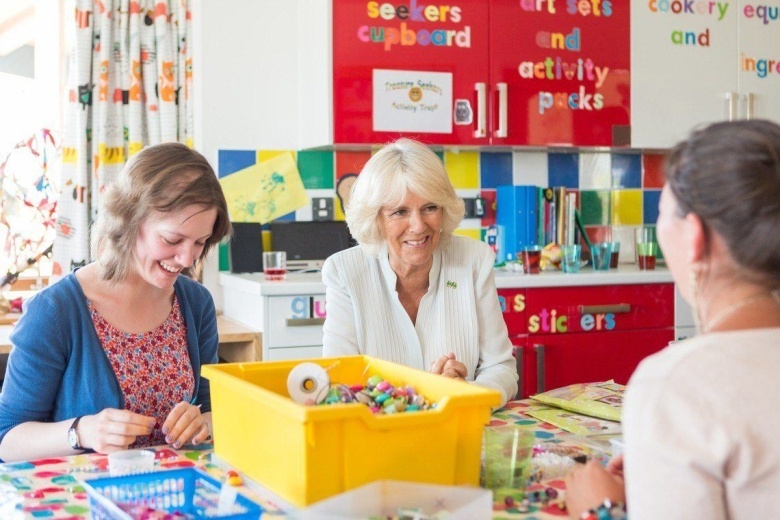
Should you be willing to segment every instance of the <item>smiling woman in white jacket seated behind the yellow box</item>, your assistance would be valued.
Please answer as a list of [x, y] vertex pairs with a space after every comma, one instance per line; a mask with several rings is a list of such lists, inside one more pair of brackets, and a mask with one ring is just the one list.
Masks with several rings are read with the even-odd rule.
[[325, 356], [367, 354], [493, 388], [502, 402], [514, 397], [495, 256], [453, 236], [463, 214], [427, 146], [399, 139], [366, 163], [346, 208], [359, 246], [322, 268]]

